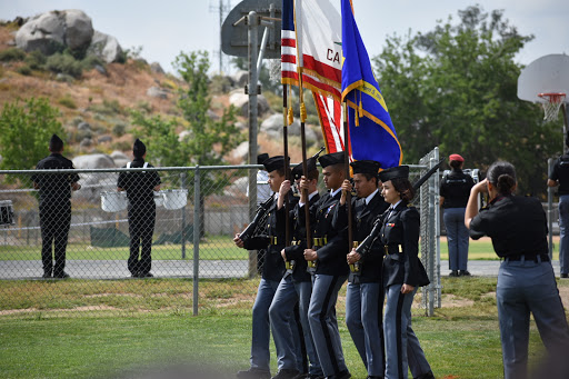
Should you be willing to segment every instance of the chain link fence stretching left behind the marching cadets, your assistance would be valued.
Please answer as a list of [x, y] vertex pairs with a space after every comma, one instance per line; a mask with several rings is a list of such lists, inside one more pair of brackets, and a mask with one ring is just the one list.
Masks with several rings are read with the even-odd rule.
[[[411, 181], [425, 167], [411, 166]], [[249, 222], [248, 177], [259, 168], [0, 171], [0, 316], [250, 311], [257, 252], [232, 238]], [[73, 174], [81, 188], [70, 199], [57, 186], [44, 196], [41, 186], [59, 180], [69, 188]], [[157, 181], [148, 178], [157, 177], [153, 192]], [[429, 206], [422, 190], [420, 197], [423, 222]], [[58, 278], [63, 273], [69, 279]]]

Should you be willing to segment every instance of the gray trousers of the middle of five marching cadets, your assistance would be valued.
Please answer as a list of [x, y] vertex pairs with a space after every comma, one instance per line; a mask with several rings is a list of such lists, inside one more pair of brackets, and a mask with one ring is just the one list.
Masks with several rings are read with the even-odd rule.
[[347, 276], [316, 273], [313, 279], [308, 321], [322, 372], [330, 377], [348, 370], [336, 318], [338, 291]]

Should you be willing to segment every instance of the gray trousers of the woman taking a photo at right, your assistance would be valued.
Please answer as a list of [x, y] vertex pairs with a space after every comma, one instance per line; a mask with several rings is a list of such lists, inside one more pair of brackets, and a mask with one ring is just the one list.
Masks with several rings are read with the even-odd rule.
[[563, 351], [565, 358], [557, 363], [566, 366], [562, 378], [568, 378], [569, 327], [551, 263], [506, 259], [498, 272], [496, 298], [505, 378], [527, 378], [530, 312], [548, 352]]

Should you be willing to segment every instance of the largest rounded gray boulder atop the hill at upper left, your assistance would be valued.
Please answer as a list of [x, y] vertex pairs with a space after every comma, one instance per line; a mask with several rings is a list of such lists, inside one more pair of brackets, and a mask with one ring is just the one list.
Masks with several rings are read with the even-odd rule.
[[89, 47], [93, 37], [91, 18], [70, 9], [50, 11], [31, 18], [16, 33], [16, 46], [24, 51], [39, 50], [46, 56], [68, 47], [80, 50]]

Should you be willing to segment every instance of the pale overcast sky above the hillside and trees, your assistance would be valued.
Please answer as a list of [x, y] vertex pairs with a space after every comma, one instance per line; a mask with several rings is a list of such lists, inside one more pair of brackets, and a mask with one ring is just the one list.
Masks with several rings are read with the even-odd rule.
[[[231, 8], [239, 0], [222, 0]], [[280, 0], [276, 0], [277, 3]], [[340, 0], [331, 0], [340, 9]], [[0, 19], [31, 17], [50, 10], [80, 9], [93, 28], [116, 37], [123, 49], [142, 47], [141, 57], [173, 72], [181, 51], [207, 50], [212, 68], [219, 67], [220, 0], [0, 0]], [[522, 64], [551, 53], [569, 54], [569, 1], [567, 0], [352, 0], [356, 21], [371, 57], [381, 52], [387, 36], [427, 32], [438, 20], [476, 3], [505, 18], [522, 36], [533, 34], [516, 57]]]

